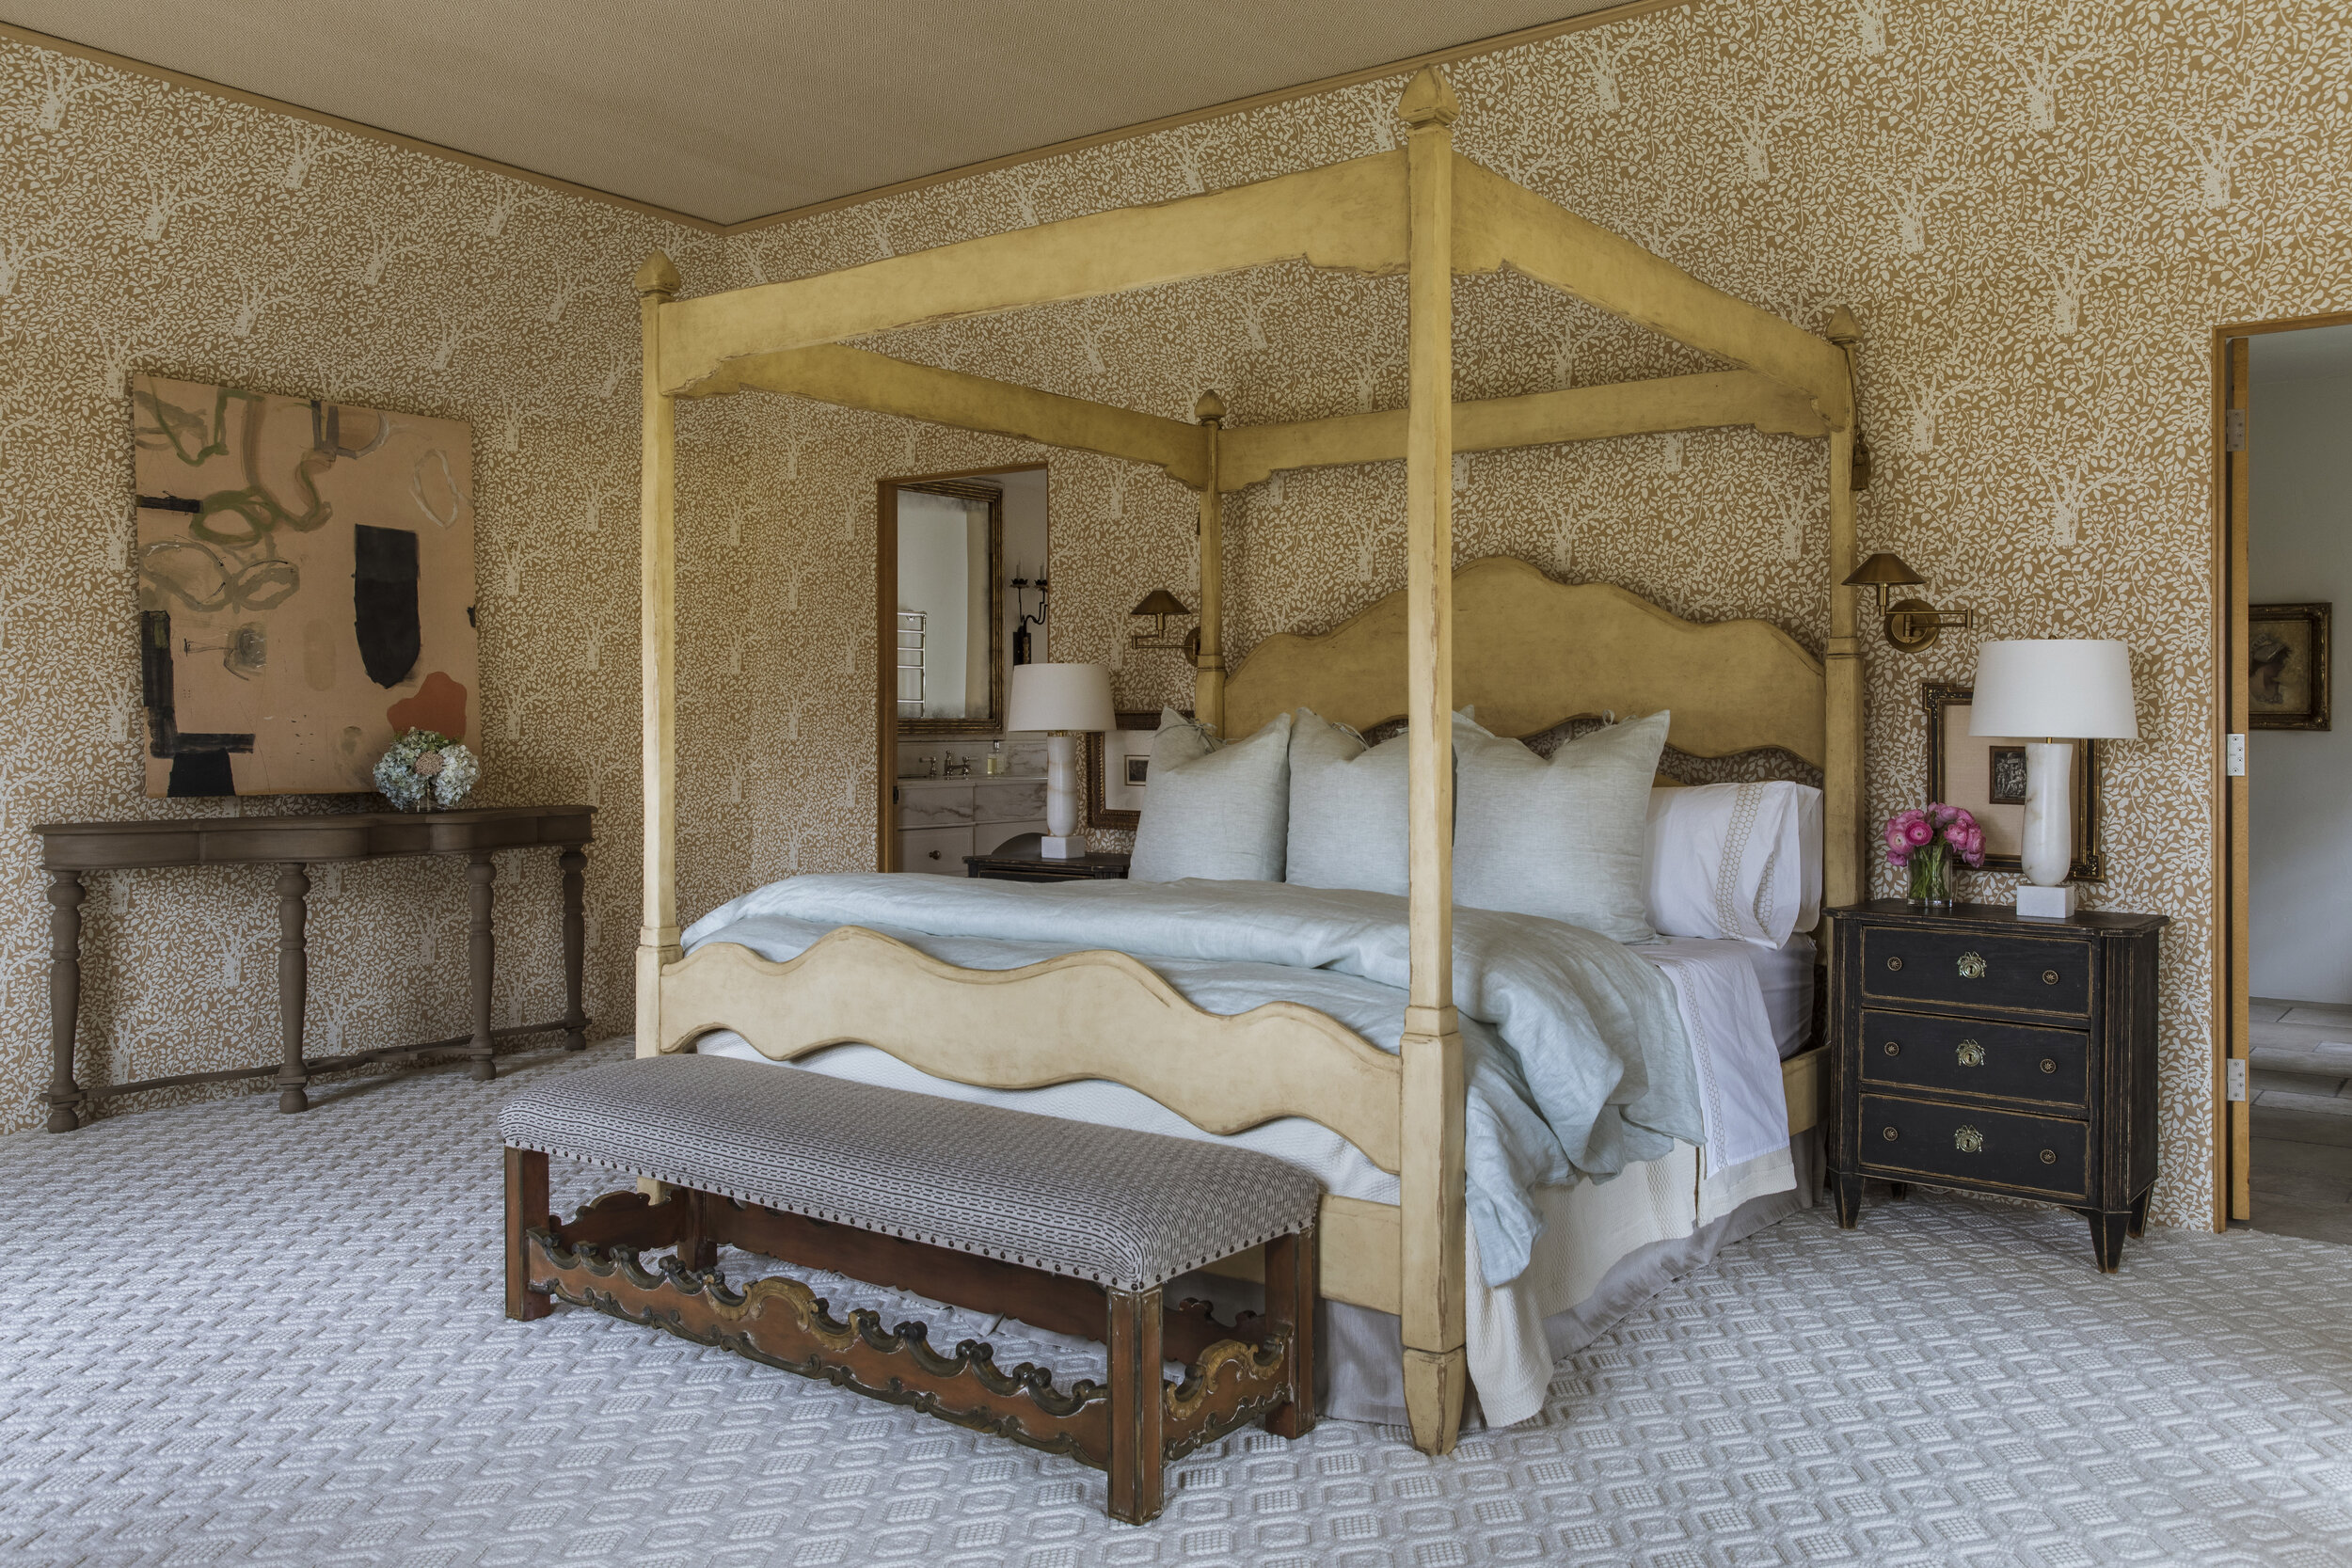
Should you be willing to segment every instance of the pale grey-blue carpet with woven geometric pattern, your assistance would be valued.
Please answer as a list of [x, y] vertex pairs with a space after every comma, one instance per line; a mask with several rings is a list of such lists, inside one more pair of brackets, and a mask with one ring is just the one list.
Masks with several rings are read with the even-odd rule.
[[1729, 1248], [1451, 1460], [1244, 1434], [1112, 1526], [1068, 1460], [572, 1307], [508, 1324], [494, 1103], [579, 1060], [0, 1140], [0, 1556], [2352, 1561], [2352, 1248], [2152, 1232], [2100, 1279], [2074, 1215], [1933, 1194]]

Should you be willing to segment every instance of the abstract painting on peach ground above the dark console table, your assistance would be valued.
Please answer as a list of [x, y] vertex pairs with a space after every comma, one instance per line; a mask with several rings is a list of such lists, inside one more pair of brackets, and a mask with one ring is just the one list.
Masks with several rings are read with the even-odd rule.
[[374, 790], [480, 743], [473, 428], [136, 376], [148, 795]]

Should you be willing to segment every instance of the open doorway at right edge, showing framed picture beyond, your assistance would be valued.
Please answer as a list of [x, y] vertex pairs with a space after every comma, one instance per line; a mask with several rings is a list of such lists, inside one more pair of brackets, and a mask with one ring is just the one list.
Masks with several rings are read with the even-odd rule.
[[[2216, 1227], [2352, 1241], [2352, 315], [2216, 334], [2220, 435]], [[2343, 842], [2343, 846], [2338, 846]]]

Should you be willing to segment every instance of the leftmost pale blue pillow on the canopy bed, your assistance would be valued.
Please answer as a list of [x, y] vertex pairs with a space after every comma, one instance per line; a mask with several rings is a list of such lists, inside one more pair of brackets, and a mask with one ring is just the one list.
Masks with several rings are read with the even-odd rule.
[[1291, 715], [1225, 745], [1162, 708], [1127, 879], [1282, 882], [1289, 806]]

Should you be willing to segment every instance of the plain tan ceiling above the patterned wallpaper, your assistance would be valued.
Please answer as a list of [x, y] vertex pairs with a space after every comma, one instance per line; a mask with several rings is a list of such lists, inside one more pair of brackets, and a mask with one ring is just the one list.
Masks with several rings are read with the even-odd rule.
[[717, 223], [1613, 0], [0, 0], [0, 19]]

